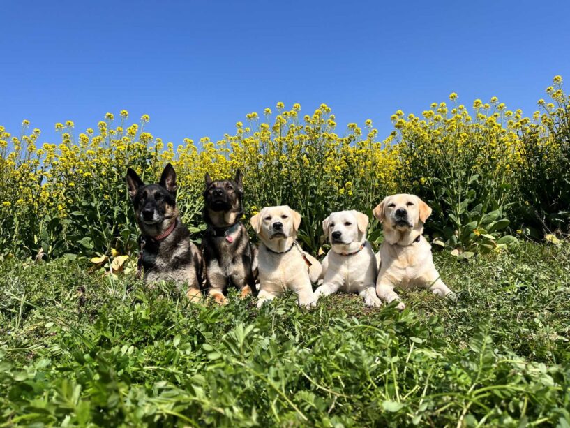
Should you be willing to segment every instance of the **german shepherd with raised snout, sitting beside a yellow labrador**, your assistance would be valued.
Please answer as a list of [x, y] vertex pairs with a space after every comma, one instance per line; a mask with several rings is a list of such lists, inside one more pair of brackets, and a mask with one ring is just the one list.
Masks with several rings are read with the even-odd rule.
[[225, 304], [227, 286], [241, 292], [242, 297], [256, 295], [253, 267], [255, 247], [240, 219], [243, 215], [243, 176], [237, 170], [235, 179], [212, 180], [206, 173], [204, 220], [208, 228], [202, 238], [204, 285], [208, 295]]

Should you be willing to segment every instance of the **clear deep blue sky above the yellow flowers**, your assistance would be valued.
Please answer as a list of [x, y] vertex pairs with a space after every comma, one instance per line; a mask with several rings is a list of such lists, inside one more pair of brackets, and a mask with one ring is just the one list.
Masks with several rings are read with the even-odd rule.
[[147, 130], [232, 133], [248, 112], [327, 103], [339, 134], [397, 109], [488, 101], [531, 115], [554, 75], [570, 82], [570, 1], [5, 1], [0, 124], [95, 127], [126, 109]]

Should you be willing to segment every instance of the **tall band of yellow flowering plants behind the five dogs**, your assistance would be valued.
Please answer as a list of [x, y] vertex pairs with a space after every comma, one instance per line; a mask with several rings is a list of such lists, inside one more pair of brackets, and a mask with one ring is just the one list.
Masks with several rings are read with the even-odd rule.
[[[129, 121], [109, 112], [77, 132], [55, 125], [59, 144], [39, 142], [40, 130], [22, 121], [20, 136], [0, 126], [0, 256], [38, 258], [132, 254], [138, 230], [124, 175], [129, 166], [156, 182], [165, 163], [177, 170], [177, 203], [200, 240], [204, 174], [216, 179], [244, 172], [248, 217], [266, 205], [290, 205], [303, 216], [299, 239], [316, 253], [321, 222], [340, 209], [371, 209], [385, 195], [416, 193], [433, 207], [426, 231], [433, 242], [463, 257], [502, 249], [534, 230], [567, 230], [570, 206], [569, 98], [557, 76], [551, 102], [532, 119], [507, 110], [496, 97], [469, 110], [433, 103], [421, 116], [398, 110], [394, 131], [379, 138], [372, 121], [338, 131], [328, 105], [311, 114], [284, 103], [250, 112], [218, 141], [186, 138], [174, 147], [146, 129], [149, 115]], [[470, 112], [472, 111], [472, 112]], [[373, 221], [370, 240], [379, 242]]]

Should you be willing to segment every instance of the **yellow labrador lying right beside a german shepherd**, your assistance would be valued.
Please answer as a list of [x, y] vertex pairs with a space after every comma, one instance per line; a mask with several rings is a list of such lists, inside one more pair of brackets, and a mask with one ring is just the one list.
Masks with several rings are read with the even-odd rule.
[[312, 283], [319, 279], [321, 265], [316, 258], [304, 253], [295, 240], [301, 214], [287, 205], [265, 207], [250, 223], [261, 240], [257, 253], [260, 279], [257, 307], [286, 290], [297, 294], [299, 306], [313, 306]]

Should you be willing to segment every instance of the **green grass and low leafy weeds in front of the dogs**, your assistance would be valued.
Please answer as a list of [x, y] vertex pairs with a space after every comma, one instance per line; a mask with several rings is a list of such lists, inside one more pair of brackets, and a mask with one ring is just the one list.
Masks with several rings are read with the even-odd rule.
[[261, 310], [0, 263], [0, 425], [569, 427], [570, 246], [437, 253], [456, 304]]

